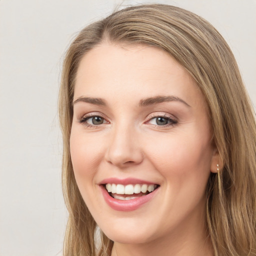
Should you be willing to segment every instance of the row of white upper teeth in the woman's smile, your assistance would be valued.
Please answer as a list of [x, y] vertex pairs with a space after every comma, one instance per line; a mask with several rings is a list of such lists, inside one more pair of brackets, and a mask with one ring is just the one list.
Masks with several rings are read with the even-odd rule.
[[157, 185], [155, 184], [128, 184], [128, 185], [122, 185], [122, 184], [110, 184], [107, 183], [106, 189], [109, 193], [116, 193], [116, 194], [138, 194], [140, 192], [145, 193], [146, 191], [152, 192]]

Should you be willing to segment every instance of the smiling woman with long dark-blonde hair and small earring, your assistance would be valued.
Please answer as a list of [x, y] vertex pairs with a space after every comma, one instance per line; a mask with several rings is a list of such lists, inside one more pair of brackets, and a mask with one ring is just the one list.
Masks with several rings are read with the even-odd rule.
[[207, 21], [154, 4], [85, 27], [59, 112], [64, 255], [256, 255], [255, 119]]

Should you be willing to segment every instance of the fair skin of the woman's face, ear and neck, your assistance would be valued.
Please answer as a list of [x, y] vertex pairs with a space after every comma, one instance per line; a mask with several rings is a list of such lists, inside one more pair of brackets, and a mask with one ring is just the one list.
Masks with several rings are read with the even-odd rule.
[[[141, 99], [167, 95], [181, 101], [140, 105]], [[106, 105], [77, 101], [80, 97], [101, 98]], [[204, 98], [188, 72], [156, 47], [104, 42], [82, 58], [74, 101], [74, 175], [93, 218], [114, 241], [111, 255], [213, 255], [204, 221], [205, 188], [218, 153]], [[103, 122], [93, 125], [92, 115]], [[157, 116], [174, 122], [159, 125]], [[118, 211], [99, 189], [109, 177], [160, 187], [138, 209]]]

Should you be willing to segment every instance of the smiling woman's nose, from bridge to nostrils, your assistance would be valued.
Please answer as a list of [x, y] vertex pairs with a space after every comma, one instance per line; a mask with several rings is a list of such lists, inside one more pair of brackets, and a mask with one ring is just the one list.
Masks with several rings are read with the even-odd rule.
[[142, 147], [139, 145], [139, 134], [131, 127], [116, 127], [109, 137], [105, 159], [107, 162], [125, 168], [142, 162]]

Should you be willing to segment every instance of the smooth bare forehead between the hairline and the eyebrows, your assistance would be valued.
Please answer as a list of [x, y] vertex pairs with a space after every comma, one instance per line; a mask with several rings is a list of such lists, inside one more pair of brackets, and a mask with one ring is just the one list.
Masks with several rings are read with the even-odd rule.
[[[148, 45], [102, 43], [78, 66], [74, 99], [79, 96], [130, 98], [174, 94], [203, 101], [195, 81], [169, 54]], [[200, 101], [200, 100], [199, 100]]]

